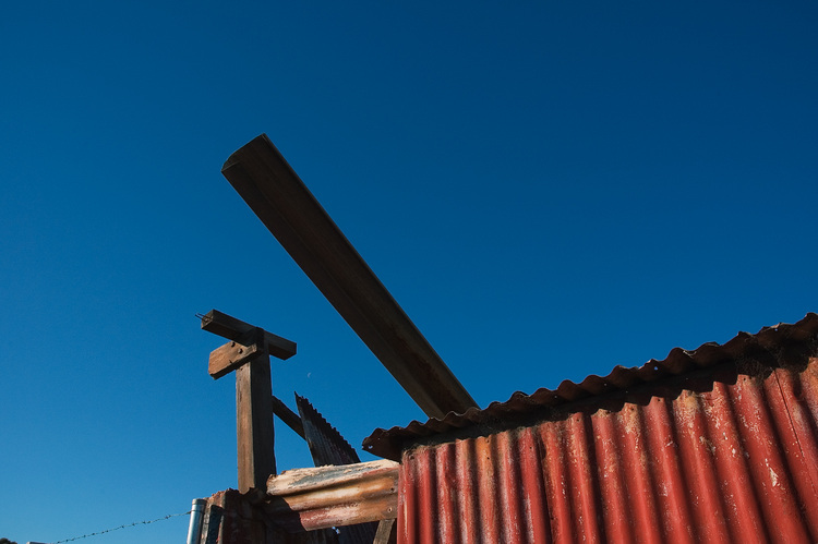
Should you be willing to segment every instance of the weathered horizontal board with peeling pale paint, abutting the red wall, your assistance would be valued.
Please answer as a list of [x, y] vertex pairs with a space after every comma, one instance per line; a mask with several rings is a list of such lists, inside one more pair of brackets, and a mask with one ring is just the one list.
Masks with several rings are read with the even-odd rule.
[[396, 518], [397, 482], [386, 460], [285, 471], [267, 480], [265, 511], [293, 532]]

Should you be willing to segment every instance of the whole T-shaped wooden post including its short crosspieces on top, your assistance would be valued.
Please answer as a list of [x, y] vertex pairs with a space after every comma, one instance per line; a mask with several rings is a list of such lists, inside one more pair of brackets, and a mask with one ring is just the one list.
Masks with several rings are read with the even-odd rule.
[[230, 340], [210, 353], [208, 372], [218, 379], [236, 371], [239, 492], [264, 492], [276, 473], [269, 355], [288, 359], [296, 342], [216, 310], [202, 317], [202, 328]]

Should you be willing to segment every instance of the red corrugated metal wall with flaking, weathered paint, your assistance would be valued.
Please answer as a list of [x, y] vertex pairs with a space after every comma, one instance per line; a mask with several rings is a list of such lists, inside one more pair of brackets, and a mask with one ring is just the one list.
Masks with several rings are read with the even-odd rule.
[[706, 389], [405, 451], [398, 542], [818, 542], [818, 359]]

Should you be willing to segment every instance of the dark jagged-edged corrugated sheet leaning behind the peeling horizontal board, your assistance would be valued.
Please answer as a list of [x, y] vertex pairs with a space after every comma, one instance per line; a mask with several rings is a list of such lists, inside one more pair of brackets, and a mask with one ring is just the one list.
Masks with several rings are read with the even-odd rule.
[[[304, 438], [315, 467], [361, 462], [358, 452], [304, 397], [296, 395], [298, 413], [304, 425]], [[359, 523], [338, 528], [339, 544], [371, 544], [377, 523]]]

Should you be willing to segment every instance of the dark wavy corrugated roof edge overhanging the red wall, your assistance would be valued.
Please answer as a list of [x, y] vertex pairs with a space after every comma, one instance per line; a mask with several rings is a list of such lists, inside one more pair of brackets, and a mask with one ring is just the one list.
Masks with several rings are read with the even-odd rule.
[[[615, 366], [608, 376], [590, 375], [581, 383], [564, 380], [556, 389], [540, 388], [531, 395], [517, 391], [505, 402], [492, 402], [482, 410], [462, 414], [449, 412], [443, 420], [412, 421], [405, 427], [376, 428], [363, 440], [363, 448], [376, 456], [399, 460], [406, 447], [438, 434], [473, 427], [496, 432], [518, 424], [531, 424], [530, 416], [544, 420], [555, 412], [579, 411], [584, 404], [623, 394], [657, 395], [665, 387], [677, 388], [679, 379], [714, 375], [730, 379], [735, 372], [757, 375], [782, 361], [803, 361], [818, 354], [818, 314], [808, 313], [795, 324], [763, 327], [755, 335], [738, 333], [723, 344], [708, 342], [696, 350], [674, 348], [662, 361], [651, 359], [641, 366]], [[730, 371], [733, 372], [730, 372]], [[684, 385], [688, 387], [689, 384]], [[584, 402], [585, 401], [585, 402]]]

